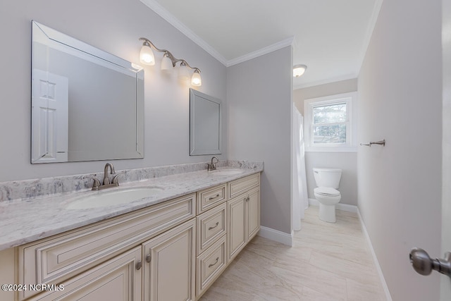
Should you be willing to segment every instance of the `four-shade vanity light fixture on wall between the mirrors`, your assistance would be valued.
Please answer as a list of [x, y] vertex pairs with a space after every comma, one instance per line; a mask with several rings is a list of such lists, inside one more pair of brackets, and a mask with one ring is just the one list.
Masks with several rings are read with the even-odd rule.
[[190, 78], [190, 69], [194, 70], [191, 77], [191, 85], [195, 87], [199, 87], [202, 85], [202, 78], [200, 77], [199, 68], [191, 67], [187, 61], [183, 59], [177, 59], [171, 52], [166, 49], [156, 48], [155, 45], [146, 39], [145, 37], [140, 37], [140, 41], [142, 42], [142, 47], [140, 51], [140, 62], [144, 65], [154, 66], [155, 65], [155, 56], [152, 48], [158, 52], [163, 52], [163, 59], [161, 60], [161, 71], [164, 73], [171, 73], [171, 66], [174, 68], [176, 63], [180, 62], [180, 66], [178, 69], [178, 78], [180, 80], [188, 80]]

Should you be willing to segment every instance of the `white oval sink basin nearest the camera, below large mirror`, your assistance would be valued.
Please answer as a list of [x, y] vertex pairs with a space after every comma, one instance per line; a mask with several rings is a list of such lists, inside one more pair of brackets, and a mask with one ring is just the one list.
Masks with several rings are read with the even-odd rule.
[[161, 192], [159, 187], [123, 188], [91, 192], [89, 196], [79, 197], [67, 205], [67, 209], [89, 209], [126, 204], [137, 199], [150, 197]]

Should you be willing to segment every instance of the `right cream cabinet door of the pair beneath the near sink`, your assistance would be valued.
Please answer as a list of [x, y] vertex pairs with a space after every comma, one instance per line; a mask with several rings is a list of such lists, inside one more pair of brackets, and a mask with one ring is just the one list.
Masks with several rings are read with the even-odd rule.
[[194, 300], [196, 219], [142, 244], [144, 300]]

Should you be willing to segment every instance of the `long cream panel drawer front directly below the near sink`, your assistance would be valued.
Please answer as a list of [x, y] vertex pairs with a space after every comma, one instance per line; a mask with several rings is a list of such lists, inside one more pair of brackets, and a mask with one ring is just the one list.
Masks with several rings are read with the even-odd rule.
[[[19, 283], [61, 283], [195, 216], [186, 195], [18, 247]], [[27, 291], [25, 297], [34, 292]]]

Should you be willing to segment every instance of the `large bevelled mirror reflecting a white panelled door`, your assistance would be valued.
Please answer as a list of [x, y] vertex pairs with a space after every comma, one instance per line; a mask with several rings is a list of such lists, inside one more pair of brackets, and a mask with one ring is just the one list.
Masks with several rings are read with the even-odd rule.
[[144, 157], [144, 70], [32, 21], [31, 163]]

